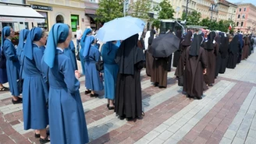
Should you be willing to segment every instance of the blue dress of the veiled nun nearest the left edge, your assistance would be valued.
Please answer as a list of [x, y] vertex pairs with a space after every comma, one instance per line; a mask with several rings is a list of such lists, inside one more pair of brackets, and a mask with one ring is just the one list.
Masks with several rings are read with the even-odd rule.
[[9, 82], [9, 90], [12, 96], [20, 96], [17, 79], [20, 77], [20, 62], [16, 55], [16, 49], [11, 40], [5, 39], [3, 50], [6, 57], [6, 71]]

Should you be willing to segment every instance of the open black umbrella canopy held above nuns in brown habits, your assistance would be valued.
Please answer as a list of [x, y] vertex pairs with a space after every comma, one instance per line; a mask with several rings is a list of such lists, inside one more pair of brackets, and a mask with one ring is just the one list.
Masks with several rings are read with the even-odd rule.
[[155, 58], [167, 58], [180, 47], [180, 39], [172, 33], [162, 34], [153, 40], [148, 50]]

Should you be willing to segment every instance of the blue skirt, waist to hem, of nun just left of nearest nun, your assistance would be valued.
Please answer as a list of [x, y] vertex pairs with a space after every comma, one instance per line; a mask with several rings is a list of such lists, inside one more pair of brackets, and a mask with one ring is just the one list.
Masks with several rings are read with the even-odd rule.
[[49, 124], [46, 107], [47, 87], [41, 76], [24, 76], [23, 120], [24, 129], [44, 129]]

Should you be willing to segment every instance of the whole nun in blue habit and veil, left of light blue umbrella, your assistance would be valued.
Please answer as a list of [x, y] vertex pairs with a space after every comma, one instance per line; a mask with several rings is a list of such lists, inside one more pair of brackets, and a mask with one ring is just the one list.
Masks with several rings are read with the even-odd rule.
[[84, 68], [85, 68], [85, 86], [87, 91], [85, 93], [91, 93], [90, 97], [98, 97], [98, 94], [94, 91], [103, 90], [103, 83], [101, 73], [96, 69], [95, 63], [101, 60], [101, 53], [98, 51], [94, 36], [88, 36], [84, 45]]

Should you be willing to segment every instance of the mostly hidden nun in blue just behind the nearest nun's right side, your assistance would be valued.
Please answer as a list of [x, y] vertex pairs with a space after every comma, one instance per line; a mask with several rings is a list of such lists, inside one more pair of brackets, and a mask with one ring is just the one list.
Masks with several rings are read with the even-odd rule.
[[76, 48], [73, 40], [70, 40], [69, 47], [66, 47], [64, 50], [64, 54], [70, 58], [72, 61], [73, 68], [77, 70], [77, 63], [76, 63]]

